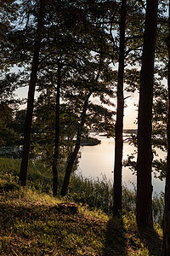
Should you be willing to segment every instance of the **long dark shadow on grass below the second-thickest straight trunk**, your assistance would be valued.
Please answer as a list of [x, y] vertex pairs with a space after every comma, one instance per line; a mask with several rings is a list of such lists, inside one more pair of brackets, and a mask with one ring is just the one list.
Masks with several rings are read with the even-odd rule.
[[127, 255], [127, 239], [124, 236], [124, 225], [122, 218], [110, 218], [105, 232], [105, 246], [103, 256], [125, 256]]

